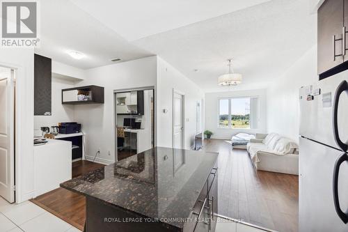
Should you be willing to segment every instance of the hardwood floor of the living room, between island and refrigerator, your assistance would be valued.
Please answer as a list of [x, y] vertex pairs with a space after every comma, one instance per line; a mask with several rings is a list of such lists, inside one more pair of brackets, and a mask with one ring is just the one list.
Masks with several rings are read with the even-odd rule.
[[205, 140], [219, 152], [219, 214], [281, 232], [298, 231], [299, 177], [255, 171], [246, 150], [224, 140]]

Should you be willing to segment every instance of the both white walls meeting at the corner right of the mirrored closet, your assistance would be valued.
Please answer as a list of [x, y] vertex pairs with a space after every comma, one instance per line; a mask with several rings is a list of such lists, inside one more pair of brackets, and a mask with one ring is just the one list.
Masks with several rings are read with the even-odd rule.
[[[113, 91], [125, 88], [155, 86], [157, 100], [157, 146], [172, 146], [173, 132], [173, 88], [185, 94], [185, 147], [190, 148], [196, 134], [196, 102], [204, 99], [204, 93], [190, 79], [171, 65], [150, 56], [114, 65], [86, 70], [85, 79], [76, 86], [94, 84], [104, 86], [103, 105], [77, 105], [74, 107], [74, 121], [82, 124], [86, 133], [86, 156], [93, 159], [100, 148], [98, 162], [115, 161], [115, 127]], [[168, 109], [164, 114], [162, 109]], [[204, 118], [203, 118], [204, 123]], [[109, 155], [109, 151], [110, 154]]]

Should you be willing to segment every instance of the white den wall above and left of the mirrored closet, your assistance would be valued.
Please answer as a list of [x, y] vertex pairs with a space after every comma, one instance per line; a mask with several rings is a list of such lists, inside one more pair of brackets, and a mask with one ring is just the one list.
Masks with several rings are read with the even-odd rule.
[[104, 104], [76, 105], [74, 108], [74, 119], [82, 124], [82, 131], [86, 133], [87, 158], [93, 159], [100, 148], [100, 155], [96, 161], [104, 163], [115, 161], [116, 122], [113, 91], [155, 86], [156, 62], [156, 56], [150, 56], [86, 70], [84, 81], [79, 82], [77, 86], [93, 84], [103, 86], [105, 91]]

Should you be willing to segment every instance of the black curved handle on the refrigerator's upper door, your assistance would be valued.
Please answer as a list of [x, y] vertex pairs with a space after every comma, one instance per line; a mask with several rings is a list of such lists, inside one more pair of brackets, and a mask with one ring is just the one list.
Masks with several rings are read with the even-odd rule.
[[336, 144], [346, 152], [348, 150], [348, 145], [341, 141], [340, 134], [338, 133], [338, 102], [340, 102], [340, 95], [347, 91], [348, 83], [346, 81], [341, 82], [335, 92], [335, 98], [333, 98], [333, 137], [335, 138]]

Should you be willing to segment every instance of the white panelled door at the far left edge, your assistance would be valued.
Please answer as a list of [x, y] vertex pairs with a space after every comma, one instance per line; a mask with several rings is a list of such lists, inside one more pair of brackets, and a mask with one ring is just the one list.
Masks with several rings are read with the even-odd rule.
[[0, 67], [0, 196], [15, 201], [14, 70]]

